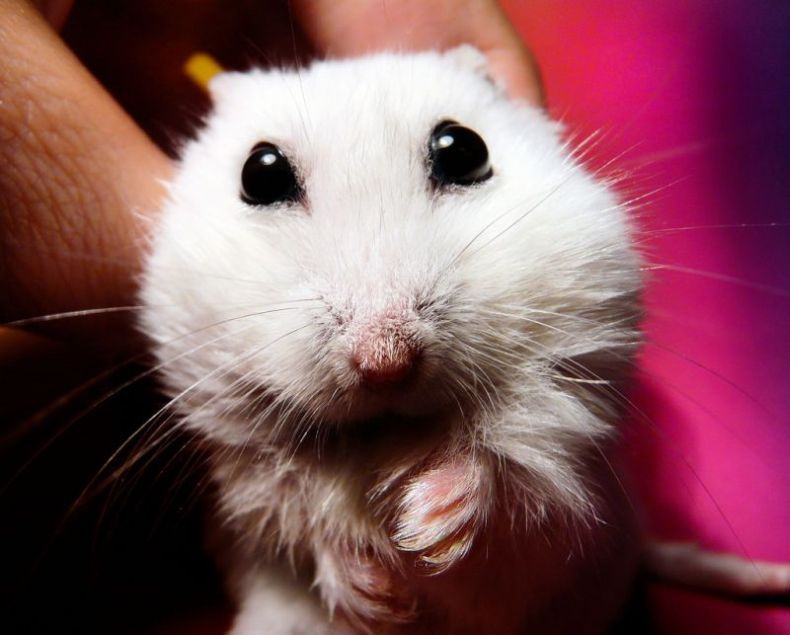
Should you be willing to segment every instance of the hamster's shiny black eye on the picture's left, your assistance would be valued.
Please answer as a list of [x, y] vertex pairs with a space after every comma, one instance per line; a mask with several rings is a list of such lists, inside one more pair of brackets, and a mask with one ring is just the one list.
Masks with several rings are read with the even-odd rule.
[[296, 201], [302, 191], [293, 166], [273, 143], [259, 143], [241, 169], [241, 200], [248, 205]]

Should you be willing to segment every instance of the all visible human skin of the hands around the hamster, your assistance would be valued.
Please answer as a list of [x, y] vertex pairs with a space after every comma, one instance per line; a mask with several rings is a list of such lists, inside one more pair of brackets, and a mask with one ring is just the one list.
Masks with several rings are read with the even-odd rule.
[[[114, 307], [136, 303], [149, 221], [173, 166], [57, 35], [71, 5], [0, 4], [0, 321], [108, 308], [99, 319], [29, 324], [113, 348], [132, 339], [133, 311]], [[210, 24], [220, 5], [206, 0], [200, 19]], [[514, 97], [542, 101], [533, 59], [493, 0], [292, 6], [318, 55], [468, 42]], [[165, 11], [186, 8], [174, 2]]]

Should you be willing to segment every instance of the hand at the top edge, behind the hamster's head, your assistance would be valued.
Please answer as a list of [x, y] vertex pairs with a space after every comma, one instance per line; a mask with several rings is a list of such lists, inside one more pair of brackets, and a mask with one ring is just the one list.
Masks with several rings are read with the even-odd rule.
[[543, 103], [537, 64], [494, 0], [295, 0], [294, 8], [326, 55], [473, 44], [513, 97]]

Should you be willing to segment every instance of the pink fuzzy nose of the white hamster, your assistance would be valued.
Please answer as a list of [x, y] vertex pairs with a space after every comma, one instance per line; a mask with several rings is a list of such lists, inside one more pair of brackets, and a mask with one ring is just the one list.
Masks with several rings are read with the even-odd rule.
[[352, 362], [362, 381], [369, 384], [394, 384], [403, 381], [414, 369], [418, 349], [413, 341], [398, 332], [363, 337], [354, 347]]

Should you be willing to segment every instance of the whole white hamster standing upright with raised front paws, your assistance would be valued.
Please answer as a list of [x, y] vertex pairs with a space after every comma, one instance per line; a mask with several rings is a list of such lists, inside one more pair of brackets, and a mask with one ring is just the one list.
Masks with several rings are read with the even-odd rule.
[[233, 634], [604, 630], [641, 549], [628, 210], [470, 47], [210, 88], [140, 326]]

